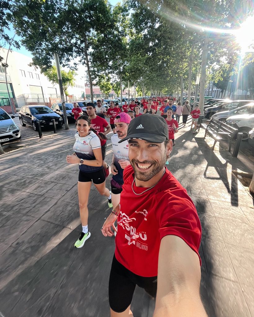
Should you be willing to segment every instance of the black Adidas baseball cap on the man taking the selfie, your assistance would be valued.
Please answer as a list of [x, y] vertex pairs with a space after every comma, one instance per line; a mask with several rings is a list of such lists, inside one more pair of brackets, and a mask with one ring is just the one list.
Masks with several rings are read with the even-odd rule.
[[128, 139], [141, 139], [148, 142], [163, 143], [169, 139], [166, 120], [150, 113], [142, 114], [130, 121], [127, 135], [118, 143]]

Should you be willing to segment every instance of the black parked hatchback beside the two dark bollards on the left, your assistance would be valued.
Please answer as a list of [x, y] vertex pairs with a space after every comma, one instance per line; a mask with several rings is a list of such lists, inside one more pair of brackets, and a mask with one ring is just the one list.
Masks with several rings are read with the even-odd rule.
[[24, 106], [19, 111], [19, 121], [22, 126], [31, 126], [34, 131], [37, 131], [37, 122], [40, 122], [41, 127], [53, 126], [52, 119], [55, 119], [56, 126], [60, 128], [63, 125], [63, 119], [57, 113], [54, 113], [47, 106]]

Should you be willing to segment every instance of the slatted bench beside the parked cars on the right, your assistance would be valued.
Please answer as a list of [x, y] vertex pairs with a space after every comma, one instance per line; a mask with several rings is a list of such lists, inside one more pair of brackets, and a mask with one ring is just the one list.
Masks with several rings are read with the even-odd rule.
[[242, 133], [239, 133], [239, 137], [237, 137], [238, 129], [229, 126], [215, 118], [212, 118], [211, 120], [202, 120], [200, 126], [205, 129], [204, 139], [207, 134], [209, 134], [209, 136], [214, 139], [212, 150], [214, 150], [215, 144], [218, 141], [226, 140], [229, 141], [228, 151], [231, 152], [232, 142], [237, 138], [237, 143], [232, 155], [233, 157], [237, 157], [242, 140]]

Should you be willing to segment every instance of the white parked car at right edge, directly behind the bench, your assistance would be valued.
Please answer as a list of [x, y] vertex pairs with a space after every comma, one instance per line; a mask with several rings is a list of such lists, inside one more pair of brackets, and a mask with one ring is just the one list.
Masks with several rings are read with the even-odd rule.
[[226, 120], [227, 124], [230, 124], [243, 133], [243, 141], [249, 139], [249, 132], [254, 128], [254, 113], [237, 114], [231, 116]]

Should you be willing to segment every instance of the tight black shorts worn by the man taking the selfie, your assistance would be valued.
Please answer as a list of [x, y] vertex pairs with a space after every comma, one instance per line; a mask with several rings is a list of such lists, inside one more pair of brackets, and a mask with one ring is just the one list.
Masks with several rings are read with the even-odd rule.
[[119, 263], [114, 255], [109, 278], [109, 305], [114, 312], [122, 313], [130, 306], [136, 285], [156, 297], [157, 276], [136, 275]]

